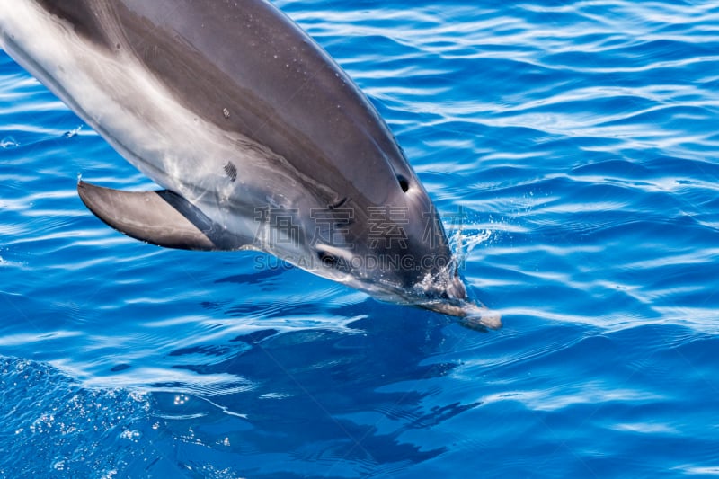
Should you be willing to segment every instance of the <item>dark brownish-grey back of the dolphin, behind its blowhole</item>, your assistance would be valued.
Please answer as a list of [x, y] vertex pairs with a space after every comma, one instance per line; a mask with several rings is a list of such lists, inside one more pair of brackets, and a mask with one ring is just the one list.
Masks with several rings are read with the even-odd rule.
[[383, 204], [396, 175], [413, 176], [351, 79], [264, 0], [40, 3], [89, 42], [130, 49], [203, 120], [268, 146], [320, 184]]

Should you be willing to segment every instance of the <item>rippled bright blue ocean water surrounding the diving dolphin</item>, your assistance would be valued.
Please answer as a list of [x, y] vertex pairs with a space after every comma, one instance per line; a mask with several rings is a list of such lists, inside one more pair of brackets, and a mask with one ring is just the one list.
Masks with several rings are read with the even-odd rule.
[[504, 327], [104, 226], [152, 187], [0, 53], [0, 475], [719, 475], [719, 5], [277, 2]]

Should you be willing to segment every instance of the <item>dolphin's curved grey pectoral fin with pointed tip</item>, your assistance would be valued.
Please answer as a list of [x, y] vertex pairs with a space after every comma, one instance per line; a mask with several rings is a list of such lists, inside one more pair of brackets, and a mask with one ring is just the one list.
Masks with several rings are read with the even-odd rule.
[[172, 191], [120, 191], [77, 183], [85, 206], [125, 235], [183, 250], [237, 250], [224, 228]]

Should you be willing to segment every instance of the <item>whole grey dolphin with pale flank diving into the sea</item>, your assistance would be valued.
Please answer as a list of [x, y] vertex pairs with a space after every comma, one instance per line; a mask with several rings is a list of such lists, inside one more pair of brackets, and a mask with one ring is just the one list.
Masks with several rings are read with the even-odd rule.
[[342, 68], [264, 0], [0, 0], [0, 46], [162, 191], [78, 183], [120, 232], [257, 250], [372, 297], [499, 328]]

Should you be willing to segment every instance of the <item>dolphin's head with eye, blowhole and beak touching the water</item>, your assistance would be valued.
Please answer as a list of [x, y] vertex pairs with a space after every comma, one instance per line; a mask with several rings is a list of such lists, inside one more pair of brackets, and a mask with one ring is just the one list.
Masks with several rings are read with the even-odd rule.
[[332, 205], [300, 211], [306, 241], [298, 265], [379, 300], [501, 327], [499, 315], [469, 297], [439, 213], [413, 170], [407, 165], [375, 182], [364, 190], [374, 194], [338, 191]]

